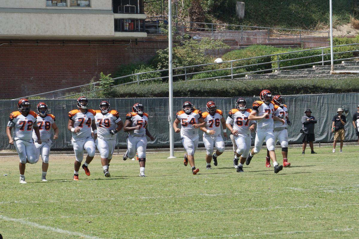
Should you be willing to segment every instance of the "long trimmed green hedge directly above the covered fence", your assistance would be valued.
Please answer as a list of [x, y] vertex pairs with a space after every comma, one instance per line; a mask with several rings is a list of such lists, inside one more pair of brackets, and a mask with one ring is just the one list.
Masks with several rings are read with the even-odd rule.
[[[339, 83], [340, 82], [340, 83]], [[263, 89], [273, 94], [323, 94], [359, 92], [359, 78], [252, 81], [183, 81], [173, 85], [174, 97], [236, 97], [258, 95]], [[131, 84], [112, 91], [115, 98], [168, 97], [168, 84]]]

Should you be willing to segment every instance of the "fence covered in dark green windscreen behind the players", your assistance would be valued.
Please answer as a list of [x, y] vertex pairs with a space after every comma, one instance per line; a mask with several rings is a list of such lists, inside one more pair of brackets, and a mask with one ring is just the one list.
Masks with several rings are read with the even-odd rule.
[[[258, 100], [258, 97], [244, 97], [247, 107], [251, 107], [252, 102]], [[314, 143], [326, 145], [333, 142], [334, 134], [331, 132], [332, 118], [336, 114], [337, 108], [344, 108], [347, 123], [345, 125], [345, 142], [346, 144], [358, 144], [358, 137], [352, 124], [353, 114], [356, 112], [356, 106], [359, 103], [358, 93], [347, 94], [322, 94], [322, 95], [290, 95], [284, 96], [286, 104], [289, 108], [289, 119], [293, 125], [288, 128], [289, 147], [298, 147], [302, 144], [302, 128], [301, 118], [306, 109], [311, 109], [312, 115], [318, 120], [315, 125]], [[140, 102], [145, 106], [145, 112], [149, 114], [149, 130], [155, 137], [154, 141], [148, 141], [148, 151], [168, 152], [169, 151], [169, 124], [168, 124], [168, 98], [126, 98], [126, 99], [90, 99], [89, 108], [98, 109], [99, 103], [107, 100], [111, 109], [115, 109], [120, 113], [121, 119], [124, 121], [125, 116], [131, 111], [132, 106], [136, 102]], [[205, 111], [206, 103], [213, 100], [217, 109], [223, 111], [223, 116], [227, 118], [228, 111], [235, 108], [237, 98], [174, 98], [174, 112], [182, 109], [185, 101], [191, 101], [197, 109]], [[49, 113], [55, 115], [56, 124], [60, 129], [59, 139], [53, 140], [51, 150], [58, 153], [73, 153], [71, 145], [71, 132], [67, 130], [68, 112], [77, 109], [76, 100], [31, 100], [32, 110], [36, 111], [36, 105], [43, 102], [48, 105]], [[5, 129], [9, 119], [9, 114], [17, 109], [17, 100], [1, 100], [0, 109], [3, 116], [0, 118], [0, 153], [3, 155], [16, 154], [13, 145], [9, 144], [6, 137]], [[176, 115], [173, 115], [173, 119]], [[53, 132], [52, 132], [53, 134]], [[126, 149], [127, 133], [121, 131], [117, 133], [116, 151], [124, 152]], [[204, 149], [202, 141], [202, 133], [199, 130], [199, 150]], [[255, 133], [252, 133], [252, 145], [254, 144]], [[225, 139], [226, 149], [232, 149], [232, 141]], [[175, 150], [183, 150], [180, 134], [174, 134]]]

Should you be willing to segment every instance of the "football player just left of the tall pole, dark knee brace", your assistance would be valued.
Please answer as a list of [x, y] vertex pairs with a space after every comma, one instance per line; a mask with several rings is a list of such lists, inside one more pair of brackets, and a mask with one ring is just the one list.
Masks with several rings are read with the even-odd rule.
[[134, 104], [132, 112], [126, 115], [123, 131], [127, 132], [127, 151], [123, 155], [123, 160], [134, 158], [138, 153], [138, 162], [140, 163], [140, 177], [146, 177], [146, 135], [154, 140], [154, 137], [148, 130], [148, 114], [144, 113], [144, 107], [140, 103]]

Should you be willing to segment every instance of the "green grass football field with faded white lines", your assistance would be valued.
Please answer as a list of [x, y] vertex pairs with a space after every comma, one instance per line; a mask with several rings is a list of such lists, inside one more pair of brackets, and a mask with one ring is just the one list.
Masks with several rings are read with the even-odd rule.
[[321, 147], [303, 156], [290, 149], [292, 167], [278, 175], [265, 168], [264, 150], [245, 173], [232, 167], [232, 152], [212, 170], [197, 152], [198, 175], [183, 166], [182, 153], [148, 154], [145, 178], [138, 177], [137, 161], [121, 156], [105, 178], [96, 156], [91, 176], [80, 171], [79, 182], [72, 180], [72, 156], [50, 156], [49, 181], [41, 182], [39, 162], [27, 165], [26, 185], [19, 184], [18, 158], [4, 157], [0, 233], [4, 239], [359, 238], [358, 151]]

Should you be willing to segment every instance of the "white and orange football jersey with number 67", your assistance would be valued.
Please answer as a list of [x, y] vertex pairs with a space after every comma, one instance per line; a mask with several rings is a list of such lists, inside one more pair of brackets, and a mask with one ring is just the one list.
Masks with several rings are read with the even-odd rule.
[[251, 109], [240, 111], [238, 109], [232, 109], [228, 113], [226, 124], [232, 125], [234, 130], [237, 130], [238, 134], [242, 137], [252, 138], [251, 130], [249, 127], [255, 123], [253, 120], [248, 120], [248, 116], [251, 114]]

